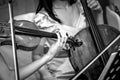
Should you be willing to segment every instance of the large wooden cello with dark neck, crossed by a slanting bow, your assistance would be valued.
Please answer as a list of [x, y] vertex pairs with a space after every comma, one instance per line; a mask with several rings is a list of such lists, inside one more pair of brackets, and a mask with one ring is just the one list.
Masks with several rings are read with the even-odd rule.
[[[70, 49], [71, 63], [77, 73], [86, 67], [110, 42], [115, 39], [120, 32], [108, 25], [96, 25], [93, 14], [87, 6], [87, 0], [80, 0], [83, 5], [89, 27], [83, 29], [75, 35], [75, 39], [83, 42], [80, 47]], [[83, 74], [88, 80], [97, 80], [100, 76], [108, 58], [112, 52], [115, 52], [120, 45], [118, 40], [112, 45], [98, 60], [95, 61]], [[78, 78], [79, 80], [79, 78]]]

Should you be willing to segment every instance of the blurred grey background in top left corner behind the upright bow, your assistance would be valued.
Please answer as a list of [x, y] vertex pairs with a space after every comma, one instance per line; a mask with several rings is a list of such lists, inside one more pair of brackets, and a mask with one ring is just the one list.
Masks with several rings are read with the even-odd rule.
[[[9, 20], [8, 10], [9, 0], [0, 0], [0, 22]], [[12, 0], [14, 16], [34, 12], [37, 7], [38, 0]]]

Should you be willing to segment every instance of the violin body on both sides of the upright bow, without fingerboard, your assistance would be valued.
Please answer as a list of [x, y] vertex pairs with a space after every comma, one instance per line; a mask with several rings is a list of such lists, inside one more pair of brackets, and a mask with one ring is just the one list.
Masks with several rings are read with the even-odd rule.
[[[19, 21], [14, 21], [14, 27], [21, 27], [21, 28], [26, 28], [26, 29], [32, 29], [32, 30], [38, 30], [37, 26], [30, 22], [30, 21], [26, 21], [26, 20], [19, 20]], [[11, 29], [10, 29], [10, 24], [6, 24], [4, 26], [0, 26], [1, 32], [0, 32], [0, 36], [2, 36], [2, 38], [0, 37], [0, 43], [1, 46], [4, 45], [11, 45]], [[15, 29], [15, 32], [18, 31]], [[16, 40], [16, 44], [17, 48], [26, 48], [26, 50], [33, 50], [40, 42], [40, 38], [39, 37], [33, 37], [30, 35], [15, 35], [15, 40]]]

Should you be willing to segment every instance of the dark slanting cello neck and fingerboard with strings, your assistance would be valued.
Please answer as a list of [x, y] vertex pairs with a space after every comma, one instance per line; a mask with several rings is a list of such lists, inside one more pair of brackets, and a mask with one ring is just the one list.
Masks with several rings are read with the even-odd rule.
[[[100, 52], [105, 47], [104, 42], [103, 42], [103, 40], [101, 38], [101, 35], [100, 35], [99, 30], [97, 28], [97, 25], [95, 24], [92, 12], [91, 12], [90, 8], [88, 8], [88, 6], [87, 6], [87, 2], [81, 1], [81, 3], [83, 4], [83, 9], [85, 11], [85, 15], [86, 15], [87, 21], [89, 23], [90, 31], [91, 31], [91, 33], [93, 35], [93, 39], [95, 41], [96, 47], [98, 49], [98, 52]], [[105, 57], [105, 55], [106, 55], [106, 57]], [[100, 59], [103, 66], [105, 65], [105, 63], [107, 62], [107, 59], [108, 59], [108, 57], [107, 57], [108, 54], [106, 53], [105, 55], [102, 56], [101, 59]]]

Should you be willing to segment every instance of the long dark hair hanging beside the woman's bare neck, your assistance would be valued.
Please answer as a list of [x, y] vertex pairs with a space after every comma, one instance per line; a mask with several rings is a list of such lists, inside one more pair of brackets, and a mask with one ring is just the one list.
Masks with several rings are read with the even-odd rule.
[[[74, 4], [77, 0], [67, 0], [70, 5]], [[53, 2], [54, 0], [39, 0], [39, 4], [36, 10], [36, 13], [38, 13], [42, 8], [48, 13], [48, 15], [54, 19], [55, 21], [62, 23], [60, 19], [58, 19], [54, 12], [53, 12]]]

